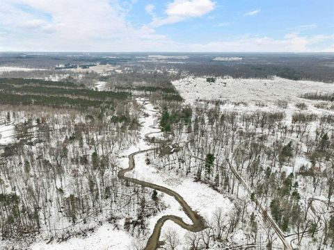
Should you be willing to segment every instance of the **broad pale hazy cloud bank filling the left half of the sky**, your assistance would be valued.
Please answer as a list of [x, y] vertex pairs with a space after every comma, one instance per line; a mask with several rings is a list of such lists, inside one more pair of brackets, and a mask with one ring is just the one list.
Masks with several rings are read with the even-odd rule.
[[[3, 0], [1, 5], [0, 33], [9, 34], [0, 40], [0, 47], [7, 50], [140, 51], [173, 44], [152, 28], [129, 24], [127, 10], [117, 0]], [[30, 10], [51, 18], [36, 17]]]

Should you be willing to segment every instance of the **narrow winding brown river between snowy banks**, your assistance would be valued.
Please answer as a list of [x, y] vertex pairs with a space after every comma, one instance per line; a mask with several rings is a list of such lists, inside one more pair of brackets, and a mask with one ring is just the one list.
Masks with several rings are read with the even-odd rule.
[[[148, 103], [143, 103], [143, 105], [147, 105]], [[157, 111], [152, 111], [151, 112], [157, 112]], [[155, 122], [150, 125], [149, 127], [152, 129], [157, 129], [154, 127]], [[146, 133], [144, 135], [144, 138], [147, 138], [148, 135], [152, 135], [153, 133], [161, 133], [161, 131], [151, 131], [150, 133]], [[164, 215], [162, 216], [160, 219], [158, 219], [157, 223], [154, 226], [154, 230], [152, 235], [150, 236], [150, 238], [148, 239], [148, 242], [146, 244], [145, 250], [155, 250], [157, 249], [159, 246], [161, 246], [162, 242], [159, 241], [160, 238], [160, 234], [161, 234], [161, 228], [162, 226], [164, 226], [164, 223], [168, 220], [171, 220], [173, 222], [175, 222], [176, 224], [178, 224], [179, 226], [181, 226], [182, 228], [186, 229], [187, 231], [191, 231], [191, 232], [199, 232], [202, 231], [203, 229], [206, 228], [206, 222], [205, 219], [203, 217], [201, 217], [200, 215], [198, 215], [198, 213], [196, 213], [196, 211], [193, 211], [191, 209], [191, 207], [188, 205], [188, 203], [186, 203], [186, 201], [184, 201], [184, 199], [180, 196], [180, 194], [177, 194], [177, 192], [170, 190], [168, 188], [165, 188], [161, 185], [156, 185], [153, 183], [148, 183], [146, 181], [140, 181], [136, 178], [131, 178], [131, 177], [127, 177], [125, 176], [125, 174], [127, 172], [130, 172], [134, 169], [134, 167], [136, 167], [135, 164], [135, 160], [134, 160], [134, 156], [141, 154], [141, 153], [147, 153], [149, 151], [153, 151], [154, 149], [145, 149], [145, 150], [140, 150], [140, 151], [136, 151], [134, 153], [131, 153], [128, 157], [129, 157], [129, 167], [126, 169], [121, 169], [118, 172], [118, 178], [123, 179], [125, 181], [130, 181], [132, 183], [136, 183], [138, 185], [141, 185], [145, 188], [151, 188], [153, 190], [158, 190], [160, 192], [164, 192], [165, 194], [170, 195], [171, 197], [174, 197], [174, 199], [180, 204], [180, 206], [182, 207], [182, 209], [184, 210], [184, 213], [189, 217], [189, 219], [191, 219], [191, 222], [193, 224], [187, 224], [186, 222], [184, 222], [184, 220], [181, 217], [177, 217], [175, 215]]]

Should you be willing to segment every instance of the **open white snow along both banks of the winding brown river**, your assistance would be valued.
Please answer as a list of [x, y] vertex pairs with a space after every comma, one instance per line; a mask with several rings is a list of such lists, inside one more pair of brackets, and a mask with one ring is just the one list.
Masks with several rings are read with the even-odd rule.
[[[152, 106], [151, 103], [145, 105], [145, 113], [148, 113], [150, 116], [141, 118], [140, 120], [140, 122], [142, 122], [141, 138], [144, 138], [146, 133], [157, 132], [157, 134], [161, 134], [159, 133], [159, 129], [150, 127], [154, 124], [154, 120], [156, 119], [155, 113], [152, 111], [153, 109], [154, 106]], [[156, 134], [151, 134], [151, 136], [153, 135]], [[129, 153], [134, 153], [138, 150], [150, 149], [151, 147], [152, 146], [145, 142], [145, 140], [140, 140], [138, 144], [130, 147], [124, 152], [124, 155], [121, 156], [120, 167], [128, 167], [129, 160], [126, 156], [128, 156]], [[228, 212], [234, 208], [230, 199], [225, 197], [225, 195], [212, 190], [212, 188], [209, 188], [209, 186], [203, 183], [194, 182], [191, 178], [182, 176], [182, 174], [173, 174], [173, 172], [168, 172], [166, 169], [157, 169], [156, 167], [161, 164], [156, 166], [153, 164], [147, 165], [145, 163], [145, 157], [145, 153], [134, 156], [136, 167], [132, 172], [128, 172], [126, 176], [162, 185], [177, 192], [193, 210], [198, 211], [198, 213], [205, 218], [211, 218], [212, 213], [214, 213], [217, 208], [223, 208], [223, 213], [225, 213], [225, 215], [227, 215]], [[163, 199], [164, 203], [169, 204], [169, 207], [162, 213], [158, 213], [156, 216], [149, 219], [149, 228], [151, 233], [157, 220], [163, 215], [177, 215], [182, 217], [184, 222], [191, 224], [191, 220], [185, 215], [180, 204], [177, 203], [173, 197], [164, 194], [161, 199]], [[166, 232], [166, 228], [173, 228], [173, 230], [177, 231], [177, 234], [180, 235], [180, 240], [185, 239], [184, 235], [187, 231], [180, 226], [174, 224], [173, 222], [167, 222], [162, 228], [161, 235]], [[185, 242], [182, 242], [182, 245], [184, 244]]]

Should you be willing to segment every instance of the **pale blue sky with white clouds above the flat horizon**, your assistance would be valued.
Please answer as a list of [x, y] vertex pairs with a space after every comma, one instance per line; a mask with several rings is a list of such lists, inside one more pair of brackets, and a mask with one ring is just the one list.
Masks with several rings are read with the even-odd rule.
[[334, 1], [1, 0], [0, 51], [334, 52]]

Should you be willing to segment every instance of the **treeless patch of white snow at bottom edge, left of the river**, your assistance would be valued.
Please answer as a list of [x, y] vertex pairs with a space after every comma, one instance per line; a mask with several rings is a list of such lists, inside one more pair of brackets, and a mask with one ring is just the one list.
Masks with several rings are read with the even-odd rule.
[[71, 238], [67, 242], [52, 244], [38, 242], [31, 246], [31, 250], [129, 249], [132, 236], [125, 231], [118, 231], [113, 228], [112, 224], [104, 224], [87, 238]]

